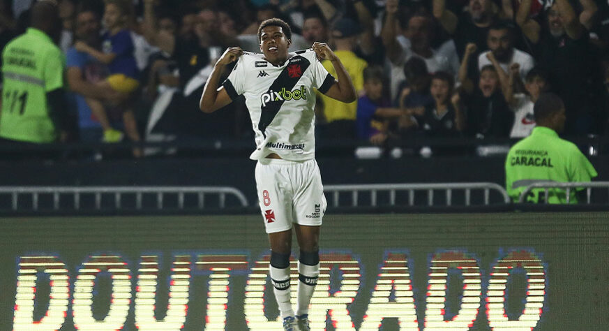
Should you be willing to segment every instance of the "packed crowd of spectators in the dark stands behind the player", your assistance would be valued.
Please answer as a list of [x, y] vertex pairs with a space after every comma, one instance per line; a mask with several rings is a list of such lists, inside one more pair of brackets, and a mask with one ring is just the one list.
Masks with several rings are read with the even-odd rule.
[[[68, 111], [52, 140], [24, 141], [251, 141], [243, 100], [209, 114], [198, 105], [220, 54], [260, 52], [257, 27], [270, 17], [290, 23], [290, 50], [329, 43], [359, 92], [349, 104], [317, 96], [320, 141], [522, 138], [544, 91], [564, 101], [565, 135], [609, 132], [604, 0], [57, 2]], [[32, 4], [0, 0], [0, 47], [26, 33]]]

